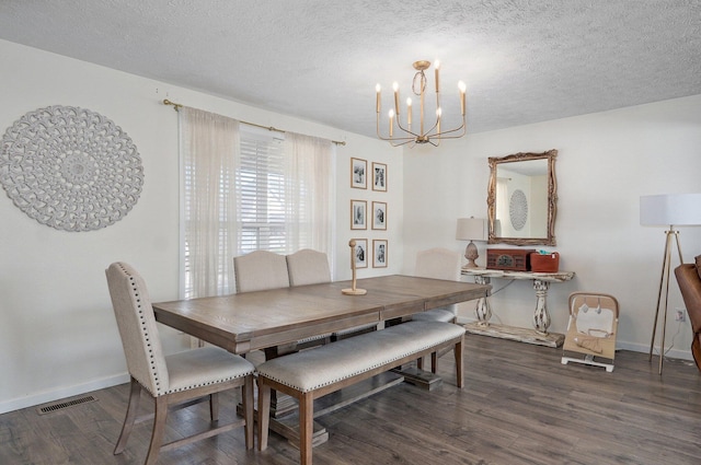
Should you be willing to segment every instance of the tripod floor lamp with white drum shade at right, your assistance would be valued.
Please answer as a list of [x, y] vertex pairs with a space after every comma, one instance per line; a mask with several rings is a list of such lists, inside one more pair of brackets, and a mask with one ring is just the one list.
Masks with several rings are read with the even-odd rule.
[[667, 194], [658, 196], [642, 196], [640, 198], [640, 223], [644, 226], [669, 226], [666, 234], [665, 254], [659, 277], [659, 291], [657, 293], [657, 307], [653, 323], [653, 337], [650, 341], [650, 358], [653, 359], [653, 347], [657, 333], [659, 311], [662, 317], [662, 340], [659, 342], [659, 374], [662, 374], [663, 360], [665, 359], [665, 333], [667, 326], [667, 300], [669, 297], [669, 272], [671, 268], [671, 247], [677, 244], [679, 264], [683, 263], [681, 248], [679, 247], [679, 231], [675, 226], [701, 225], [701, 194]]

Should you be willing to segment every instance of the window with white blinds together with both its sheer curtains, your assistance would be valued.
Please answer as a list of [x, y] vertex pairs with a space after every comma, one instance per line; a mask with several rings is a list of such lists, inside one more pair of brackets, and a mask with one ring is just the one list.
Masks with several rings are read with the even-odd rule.
[[313, 248], [333, 260], [330, 140], [287, 132], [280, 153], [281, 136], [256, 138], [188, 107], [180, 125], [182, 298], [233, 293], [233, 257], [255, 248]]

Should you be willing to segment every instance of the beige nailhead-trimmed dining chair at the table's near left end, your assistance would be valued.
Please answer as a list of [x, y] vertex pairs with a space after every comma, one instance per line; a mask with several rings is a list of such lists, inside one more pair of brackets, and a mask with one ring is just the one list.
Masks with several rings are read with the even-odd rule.
[[[240, 426], [244, 427], [246, 449], [253, 449], [253, 364], [218, 347], [164, 354], [141, 276], [131, 266], [119, 261], [110, 265], [105, 274], [127, 370], [131, 376], [129, 402], [115, 455], [126, 447], [139, 409], [141, 391], [146, 391], [156, 403], [151, 441], [145, 462], [147, 465], [157, 462], [160, 451], [210, 438]], [[235, 387], [242, 387], [243, 419], [218, 425], [218, 393]], [[191, 406], [195, 399], [209, 400], [211, 428], [163, 444], [169, 407]]]

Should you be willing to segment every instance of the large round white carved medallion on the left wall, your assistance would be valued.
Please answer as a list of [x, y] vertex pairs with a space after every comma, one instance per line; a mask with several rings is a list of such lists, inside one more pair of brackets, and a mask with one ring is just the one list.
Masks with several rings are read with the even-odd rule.
[[0, 183], [42, 224], [91, 231], [124, 218], [143, 186], [136, 146], [111, 119], [85, 108], [48, 106], [5, 131]]

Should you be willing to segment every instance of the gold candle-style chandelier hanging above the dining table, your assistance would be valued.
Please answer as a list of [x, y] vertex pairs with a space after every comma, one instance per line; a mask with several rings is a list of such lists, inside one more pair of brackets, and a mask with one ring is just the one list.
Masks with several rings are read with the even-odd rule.
[[[443, 109], [440, 107], [440, 78], [439, 78], [440, 62], [436, 60], [435, 66], [435, 80], [436, 80], [436, 119], [435, 121], [426, 121], [424, 118], [425, 97], [426, 97], [426, 71], [430, 68], [430, 61], [415, 61], [414, 80], [412, 81], [412, 92], [418, 97], [418, 128], [414, 124], [412, 129], [412, 100], [406, 98], [406, 119], [402, 119], [402, 111], [399, 104], [399, 84], [394, 82], [392, 89], [394, 91], [394, 108], [390, 108], [388, 113], [389, 117], [389, 136], [382, 136], [380, 131], [380, 109], [381, 109], [381, 96], [380, 84], [377, 84], [375, 91], [377, 92], [377, 137], [382, 140], [388, 140], [393, 147], [404, 146], [411, 143], [412, 147], [416, 143], [430, 143], [434, 147], [438, 147], [443, 139], [458, 139], [466, 135], [466, 119], [464, 119], [464, 82], [458, 82], [458, 89], [460, 90], [460, 113], [462, 115], [462, 124], [450, 130], [440, 130], [440, 119], [443, 117]], [[427, 125], [432, 125], [426, 129]], [[399, 136], [394, 135], [394, 127], [401, 132]]]

